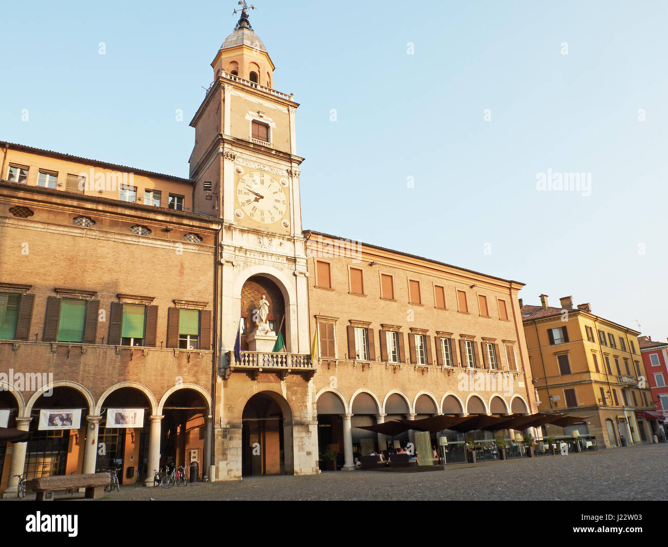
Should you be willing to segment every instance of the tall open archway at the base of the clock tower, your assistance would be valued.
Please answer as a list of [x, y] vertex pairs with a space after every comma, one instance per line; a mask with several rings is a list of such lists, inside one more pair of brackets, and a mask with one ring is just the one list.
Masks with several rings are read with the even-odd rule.
[[[283, 405], [281, 405], [283, 403]], [[285, 399], [263, 391], [248, 399], [241, 417], [242, 475], [280, 475], [291, 470], [292, 416]]]

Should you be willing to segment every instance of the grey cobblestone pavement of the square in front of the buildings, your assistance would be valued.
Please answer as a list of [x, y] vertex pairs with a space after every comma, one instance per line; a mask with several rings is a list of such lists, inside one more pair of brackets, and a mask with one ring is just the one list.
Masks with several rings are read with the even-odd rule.
[[663, 443], [424, 473], [340, 471], [169, 489], [127, 486], [106, 499], [666, 500], [667, 458]]

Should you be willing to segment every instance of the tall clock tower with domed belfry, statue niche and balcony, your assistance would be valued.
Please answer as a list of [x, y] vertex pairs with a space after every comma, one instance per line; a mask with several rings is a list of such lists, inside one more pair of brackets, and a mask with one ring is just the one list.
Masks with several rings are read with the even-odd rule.
[[[190, 122], [194, 212], [222, 219], [213, 419], [221, 479], [317, 472], [299, 199], [303, 158], [295, 141], [299, 105], [292, 94], [273, 88], [275, 65], [251, 27], [248, 9], [254, 8], [244, 3], [234, 31], [218, 49], [211, 63], [214, 80]], [[268, 409], [272, 416], [280, 410], [280, 427], [276, 418], [261, 421]], [[253, 419], [244, 418], [246, 413]], [[261, 454], [248, 452], [251, 445]]]

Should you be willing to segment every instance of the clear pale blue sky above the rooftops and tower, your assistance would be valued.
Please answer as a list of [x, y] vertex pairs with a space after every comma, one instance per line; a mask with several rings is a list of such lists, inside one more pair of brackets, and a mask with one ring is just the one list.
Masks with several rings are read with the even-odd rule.
[[[305, 228], [668, 337], [665, 2], [257, 3], [275, 87], [301, 103]], [[0, 139], [187, 176], [234, 7], [7, 3]], [[539, 192], [548, 169], [591, 173], [591, 196]]]

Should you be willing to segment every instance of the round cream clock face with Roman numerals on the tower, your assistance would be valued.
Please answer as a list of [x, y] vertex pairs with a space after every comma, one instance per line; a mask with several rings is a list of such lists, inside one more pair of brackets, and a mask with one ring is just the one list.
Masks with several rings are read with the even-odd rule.
[[287, 210], [283, 185], [262, 171], [241, 176], [236, 183], [236, 199], [244, 214], [263, 224], [279, 222]]

